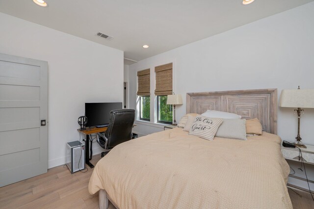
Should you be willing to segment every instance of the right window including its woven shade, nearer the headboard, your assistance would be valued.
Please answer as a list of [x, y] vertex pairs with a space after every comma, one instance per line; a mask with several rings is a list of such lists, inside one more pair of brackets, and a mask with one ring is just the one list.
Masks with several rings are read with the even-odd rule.
[[172, 124], [172, 105], [167, 105], [167, 95], [172, 95], [172, 63], [155, 67], [155, 76], [157, 123]]

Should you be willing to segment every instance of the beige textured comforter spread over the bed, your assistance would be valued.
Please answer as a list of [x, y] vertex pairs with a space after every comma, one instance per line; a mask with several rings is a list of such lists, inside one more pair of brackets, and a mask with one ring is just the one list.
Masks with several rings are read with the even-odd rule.
[[175, 128], [116, 146], [89, 192], [105, 189], [121, 209], [287, 209], [288, 173], [277, 135], [208, 141]]

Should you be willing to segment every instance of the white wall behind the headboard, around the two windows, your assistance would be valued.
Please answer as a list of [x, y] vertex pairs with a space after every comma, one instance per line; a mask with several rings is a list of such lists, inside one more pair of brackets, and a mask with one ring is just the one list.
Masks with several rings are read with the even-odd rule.
[[[174, 92], [183, 101], [188, 92], [278, 88], [279, 99], [282, 89], [314, 88], [313, 34], [314, 2], [139, 61], [130, 66], [131, 107], [136, 104], [136, 71], [168, 62], [175, 64]], [[186, 104], [177, 107], [177, 121], [185, 112]], [[314, 109], [305, 109], [304, 143], [314, 144], [313, 125]], [[136, 127], [139, 133], [149, 130]], [[296, 133], [293, 108], [278, 107], [278, 134], [293, 141]]]

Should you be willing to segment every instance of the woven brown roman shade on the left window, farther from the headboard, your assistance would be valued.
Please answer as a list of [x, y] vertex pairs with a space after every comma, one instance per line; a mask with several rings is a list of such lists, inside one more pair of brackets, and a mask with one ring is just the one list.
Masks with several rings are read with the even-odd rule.
[[150, 96], [150, 69], [141, 70], [137, 72], [137, 95]]

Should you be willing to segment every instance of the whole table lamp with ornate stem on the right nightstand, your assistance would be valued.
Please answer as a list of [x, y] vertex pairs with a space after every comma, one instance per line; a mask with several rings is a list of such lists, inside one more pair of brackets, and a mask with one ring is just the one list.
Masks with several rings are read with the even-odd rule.
[[314, 108], [314, 89], [286, 89], [282, 90], [280, 95], [279, 106], [281, 107], [296, 107], [294, 111], [297, 113], [298, 117], [298, 135], [295, 137], [295, 146], [306, 148], [306, 146], [301, 142], [300, 137], [300, 118], [303, 108]]

